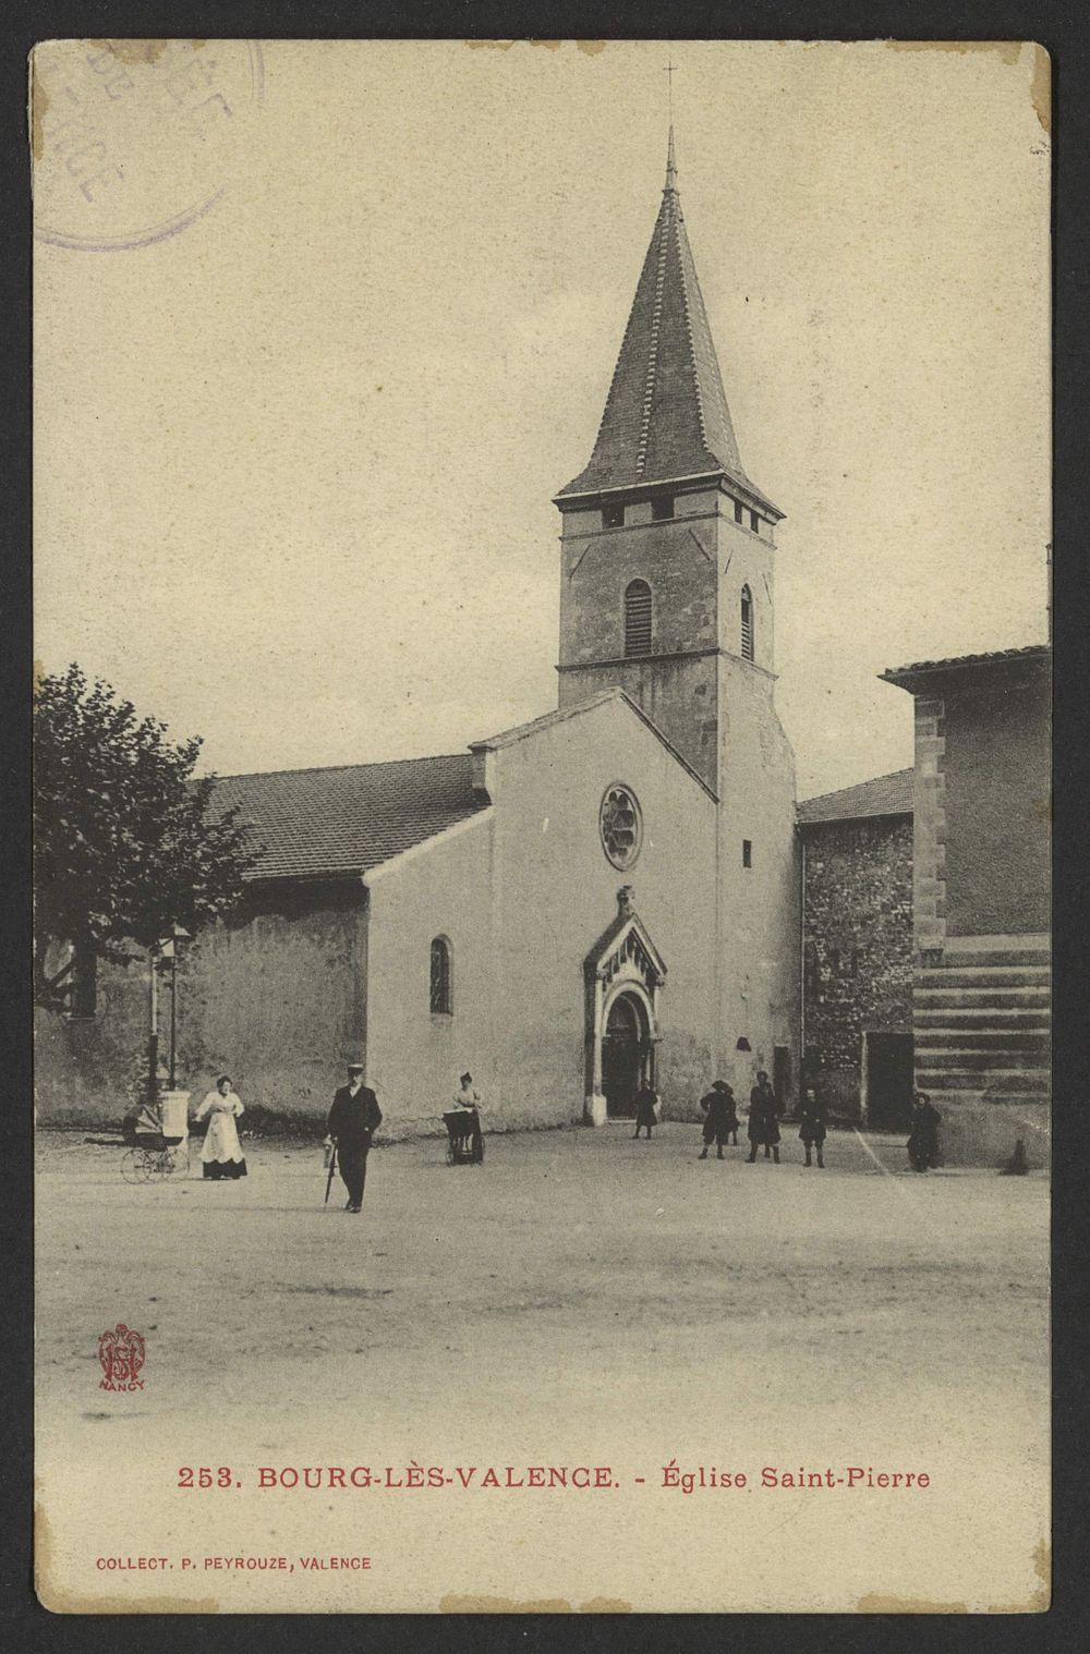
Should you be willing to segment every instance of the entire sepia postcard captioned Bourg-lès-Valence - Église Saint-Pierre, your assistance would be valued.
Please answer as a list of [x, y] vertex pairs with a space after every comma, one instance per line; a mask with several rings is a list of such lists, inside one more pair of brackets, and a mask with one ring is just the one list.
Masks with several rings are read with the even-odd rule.
[[1049, 56], [53, 40], [36, 1591], [1049, 1606]]

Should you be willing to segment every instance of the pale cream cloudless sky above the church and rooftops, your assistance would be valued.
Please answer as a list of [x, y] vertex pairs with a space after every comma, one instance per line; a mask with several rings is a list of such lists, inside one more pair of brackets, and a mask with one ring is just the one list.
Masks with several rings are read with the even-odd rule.
[[124, 203], [76, 195], [48, 81], [36, 220], [98, 241], [35, 258], [45, 670], [79, 662], [220, 774], [460, 751], [554, 706], [551, 500], [594, 445], [668, 79], [743, 463], [786, 513], [799, 796], [911, 762], [883, 668], [1047, 635], [1039, 48], [266, 41], [258, 101], [253, 53], [198, 45], [215, 136], [167, 119], [162, 65], [117, 99], [144, 222], [217, 194], [149, 245], [98, 245]]

